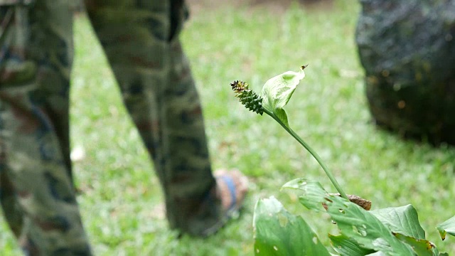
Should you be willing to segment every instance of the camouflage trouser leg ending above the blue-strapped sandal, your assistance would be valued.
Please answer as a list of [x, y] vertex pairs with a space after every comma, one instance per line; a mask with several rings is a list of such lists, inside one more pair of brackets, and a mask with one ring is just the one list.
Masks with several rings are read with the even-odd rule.
[[86, 0], [87, 11], [154, 160], [171, 228], [209, 235], [223, 209], [212, 175], [203, 115], [179, 31], [183, 1]]

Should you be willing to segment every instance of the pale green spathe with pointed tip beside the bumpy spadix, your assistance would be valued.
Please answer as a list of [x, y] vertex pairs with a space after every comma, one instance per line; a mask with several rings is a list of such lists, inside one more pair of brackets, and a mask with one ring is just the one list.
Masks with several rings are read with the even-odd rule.
[[296, 90], [297, 85], [303, 78], [305, 78], [303, 69], [299, 73], [287, 71], [270, 78], [262, 87], [262, 107], [272, 112], [287, 127], [289, 127], [289, 123], [283, 107], [287, 105], [294, 90]]

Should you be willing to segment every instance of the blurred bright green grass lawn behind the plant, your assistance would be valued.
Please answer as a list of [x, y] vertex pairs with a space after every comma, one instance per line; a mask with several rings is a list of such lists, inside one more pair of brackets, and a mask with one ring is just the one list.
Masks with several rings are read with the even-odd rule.
[[[275, 196], [301, 213], [328, 245], [335, 233], [328, 215], [309, 212], [293, 191], [279, 191], [293, 178], [320, 181], [335, 192], [311, 156], [267, 115], [249, 112], [230, 90], [245, 80], [259, 92], [264, 82], [309, 64], [287, 114], [291, 127], [326, 161], [344, 190], [373, 201], [373, 209], [411, 203], [441, 251], [434, 228], [455, 214], [455, 149], [405, 142], [375, 128], [364, 95], [363, 70], [354, 43], [360, 11], [356, 1], [323, 8], [291, 5], [203, 6], [182, 34], [204, 106], [213, 167], [250, 176], [240, 218], [208, 239], [176, 238], [168, 230], [159, 182], [121, 104], [102, 50], [84, 16], [75, 23], [72, 139], [85, 149], [75, 178], [84, 224], [96, 255], [252, 255], [252, 211], [258, 198]], [[19, 255], [0, 222], [1, 255]]]

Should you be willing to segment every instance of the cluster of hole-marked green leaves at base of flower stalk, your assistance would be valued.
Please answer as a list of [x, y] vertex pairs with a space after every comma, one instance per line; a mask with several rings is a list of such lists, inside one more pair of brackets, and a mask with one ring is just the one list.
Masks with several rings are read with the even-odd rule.
[[[417, 211], [411, 205], [383, 208], [369, 211], [346, 198], [329, 194], [317, 181], [297, 178], [284, 184], [283, 188], [292, 188], [301, 191], [299, 201], [309, 210], [321, 211], [325, 205], [326, 212], [331, 216], [333, 223], [338, 225], [340, 235], [331, 235], [331, 245], [341, 256], [358, 255], [446, 255], [439, 253], [437, 247], [425, 238], [424, 230], [419, 224]], [[262, 207], [259, 207], [262, 206]], [[285, 213], [285, 216], [284, 216]], [[309, 247], [319, 245], [319, 240], [313, 230], [301, 228], [308, 226], [303, 219], [299, 225], [297, 216], [287, 213], [276, 199], [259, 200], [255, 208], [255, 255], [295, 255], [295, 251], [309, 250]], [[454, 219], [451, 218], [438, 229], [453, 235]], [[260, 228], [258, 228], [260, 227]], [[299, 232], [296, 233], [296, 230]], [[313, 238], [302, 247], [303, 241]], [[277, 246], [281, 249], [277, 253]], [[284, 250], [284, 251], [283, 251]], [[265, 253], [265, 254], [264, 254]], [[319, 252], [321, 253], [321, 252]], [[315, 254], [316, 255], [316, 254]], [[319, 254], [318, 254], [319, 255]]]

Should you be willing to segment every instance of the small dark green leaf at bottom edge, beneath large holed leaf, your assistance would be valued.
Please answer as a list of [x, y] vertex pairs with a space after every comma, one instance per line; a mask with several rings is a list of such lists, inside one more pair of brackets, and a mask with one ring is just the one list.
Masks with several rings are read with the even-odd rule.
[[375, 252], [375, 250], [365, 249], [361, 247], [355, 240], [346, 237], [345, 235], [328, 234], [332, 242], [332, 247], [341, 256], [365, 256]]

